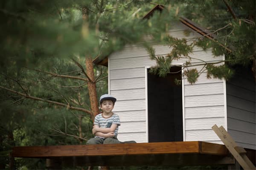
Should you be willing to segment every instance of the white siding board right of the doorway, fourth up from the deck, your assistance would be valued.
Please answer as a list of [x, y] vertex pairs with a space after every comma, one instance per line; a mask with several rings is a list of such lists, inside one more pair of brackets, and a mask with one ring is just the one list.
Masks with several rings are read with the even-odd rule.
[[224, 105], [224, 95], [185, 96], [185, 108]]

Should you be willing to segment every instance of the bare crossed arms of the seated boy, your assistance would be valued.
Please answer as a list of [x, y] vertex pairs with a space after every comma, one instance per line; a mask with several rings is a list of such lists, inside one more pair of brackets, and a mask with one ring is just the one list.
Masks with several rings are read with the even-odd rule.
[[109, 138], [114, 136], [114, 131], [117, 126], [118, 126], [117, 124], [112, 124], [111, 127], [101, 128], [99, 127], [99, 125], [94, 125], [92, 131], [93, 131], [93, 134], [96, 136]]

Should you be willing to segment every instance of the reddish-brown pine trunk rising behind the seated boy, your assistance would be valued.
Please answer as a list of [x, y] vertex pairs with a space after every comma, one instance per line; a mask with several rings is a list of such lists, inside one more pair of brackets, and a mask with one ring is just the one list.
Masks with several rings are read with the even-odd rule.
[[86, 73], [90, 78], [90, 80], [88, 80], [88, 92], [90, 97], [91, 111], [93, 112], [92, 120], [94, 121], [94, 117], [99, 113], [99, 102], [97, 99], [96, 82], [93, 71], [93, 59], [91, 57], [86, 57], [85, 64]]

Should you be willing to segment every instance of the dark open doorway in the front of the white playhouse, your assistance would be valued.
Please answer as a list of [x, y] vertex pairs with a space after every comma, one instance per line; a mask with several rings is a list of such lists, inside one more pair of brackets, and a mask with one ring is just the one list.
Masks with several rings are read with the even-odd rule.
[[175, 84], [181, 67], [170, 72], [165, 78], [148, 73], [148, 142], [183, 141], [182, 85]]

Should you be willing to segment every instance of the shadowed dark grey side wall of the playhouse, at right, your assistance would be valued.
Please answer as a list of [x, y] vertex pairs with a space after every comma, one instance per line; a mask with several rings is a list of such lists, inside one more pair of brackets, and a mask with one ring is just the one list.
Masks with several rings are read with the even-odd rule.
[[242, 147], [256, 148], [255, 82], [247, 72], [227, 82], [228, 133]]

